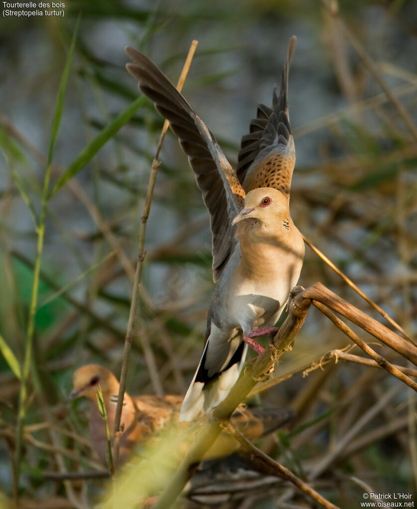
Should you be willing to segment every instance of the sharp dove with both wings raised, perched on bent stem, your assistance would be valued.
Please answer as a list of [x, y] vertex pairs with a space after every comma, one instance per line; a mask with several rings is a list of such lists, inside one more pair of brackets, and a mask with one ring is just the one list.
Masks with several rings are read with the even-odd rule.
[[272, 109], [260, 104], [250, 133], [242, 138], [236, 172], [169, 79], [145, 55], [126, 48], [133, 61], [127, 70], [178, 136], [211, 216], [218, 285], [208, 309], [204, 351], [180, 420], [192, 420], [226, 397], [242, 370], [247, 344], [262, 351], [252, 337], [274, 330], [300, 275], [304, 243], [289, 210], [295, 148], [287, 93], [295, 41], [290, 40]]

